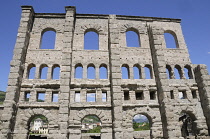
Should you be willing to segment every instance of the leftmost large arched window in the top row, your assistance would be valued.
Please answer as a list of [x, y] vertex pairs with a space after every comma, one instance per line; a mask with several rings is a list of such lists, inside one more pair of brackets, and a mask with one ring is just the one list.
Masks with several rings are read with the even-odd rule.
[[55, 48], [56, 31], [54, 29], [45, 29], [42, 32], [40, 43], [41, 49], [54, 49]]

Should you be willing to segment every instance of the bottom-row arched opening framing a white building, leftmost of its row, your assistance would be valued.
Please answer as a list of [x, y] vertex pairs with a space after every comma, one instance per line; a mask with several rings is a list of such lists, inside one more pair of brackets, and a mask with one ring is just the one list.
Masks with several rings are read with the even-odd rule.
[[29, 139], [47, 139], [48, 119], [43, 115], [33, 116], [28, 123], [29, 127]]

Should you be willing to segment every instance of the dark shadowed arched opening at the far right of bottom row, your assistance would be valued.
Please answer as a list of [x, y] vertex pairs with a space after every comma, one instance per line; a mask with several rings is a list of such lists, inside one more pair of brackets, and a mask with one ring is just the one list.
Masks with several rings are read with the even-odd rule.
[[191, 113], [182, 112], [179, 117], [181, 124], [182, 137], [196, 136], [197, 124], [195, 123], [195, 116]]

